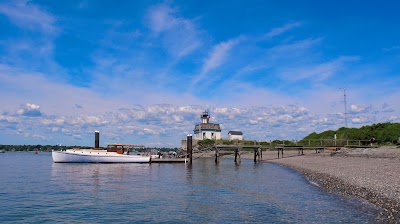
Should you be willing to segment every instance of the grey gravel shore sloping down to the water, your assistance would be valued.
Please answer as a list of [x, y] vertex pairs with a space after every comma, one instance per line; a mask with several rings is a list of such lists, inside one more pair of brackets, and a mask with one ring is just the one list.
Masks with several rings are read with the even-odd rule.
[[[293, 168], [326, 190], [363, 198], [381, 208], [380, 223], [400, 223], [400, 149], [391, 147], [264, 152], [265, 161]], [[244, 157], [249, 157], [244, 155]], [[242, 158], [244, 158], [242, 157]], [[252, 157], [250, 157], [252, 158]]]

